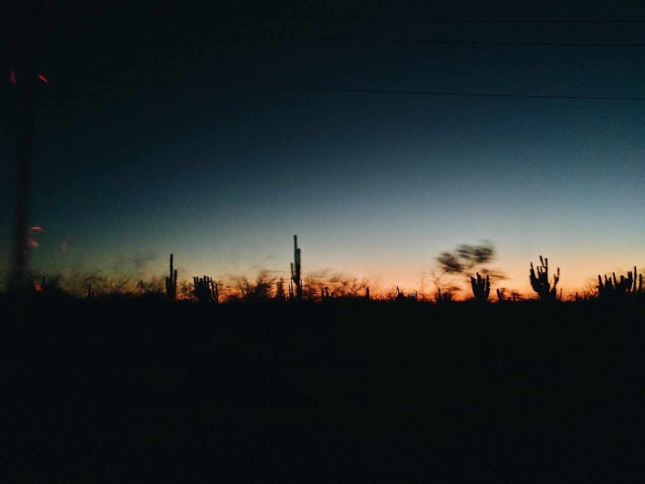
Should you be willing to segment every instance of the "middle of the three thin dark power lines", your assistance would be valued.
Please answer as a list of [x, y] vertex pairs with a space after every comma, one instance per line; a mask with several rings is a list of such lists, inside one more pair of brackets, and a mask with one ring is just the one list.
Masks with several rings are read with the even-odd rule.
[[645, 44], [582, 44], [558, 42], [497, 42], [497, 41], [452, 41], [452, 40], [427, 40], [427, 39], [386, 39], [383, 37], [332, 37], [327, 35], [292, 35], [292, 34], [252, 34], [246, 32], [229, 32], [230, 35], [241, 35], [257, 39], [278, 40], [319, 40], [319, 41], [365, 41], [365, 42], [393, 42], [417, 44], [453, 44], [453, 45], [519, 45], [519, 46], [548, 46], [548, 47], [645, 47]]

